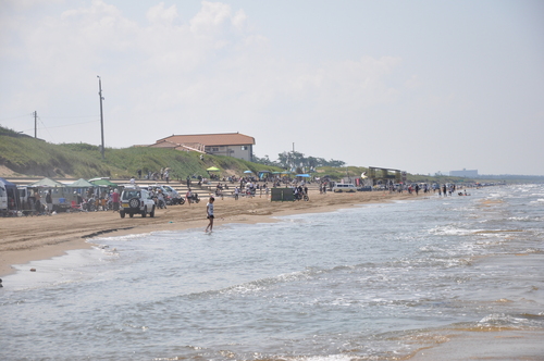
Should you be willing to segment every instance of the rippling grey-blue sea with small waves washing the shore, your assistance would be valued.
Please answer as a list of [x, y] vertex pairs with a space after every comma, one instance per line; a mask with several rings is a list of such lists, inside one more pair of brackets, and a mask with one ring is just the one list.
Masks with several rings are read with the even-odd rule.
[[542, 334], [544, 185], [468, 192], [202, 220], [16, 265], [0, 359], [406, 360], [457, 334]]

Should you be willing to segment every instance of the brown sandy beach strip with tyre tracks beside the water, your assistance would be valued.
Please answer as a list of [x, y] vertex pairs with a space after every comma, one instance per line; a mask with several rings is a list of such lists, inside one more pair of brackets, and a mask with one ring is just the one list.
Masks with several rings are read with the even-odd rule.
[[[433, 194], [419, 196], [371, 191], [355, 194], [320, 195], [310, 190], [310, 201], [271, 202], [265, 196], [260, 198], [215, 198], [215, 226], [228, 223], [275, 222], [274, 216], [332, 212], [364, 203], [384, 203], [394, 200], [424, 199]], [[14, 273], [15, 264], [45, 260], [62, 256], [69, 250], [92, 247], [88, 239], [99, 235], [123, 236], [146, 234], [157, 231], [184, 231], [206, 227], [206, 200], [190, 206], [172, 206], [158, 210], [154, 217], [121, 219], [118, 213], [78, 212], [59, 213], [47, 216], [24, 216], [0, 219], [0, 276]]]

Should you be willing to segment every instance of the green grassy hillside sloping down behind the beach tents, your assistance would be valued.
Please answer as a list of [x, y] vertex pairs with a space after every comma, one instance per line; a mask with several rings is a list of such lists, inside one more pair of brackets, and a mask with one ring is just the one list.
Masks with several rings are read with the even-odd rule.
[[53, 145], [0, 127], [0, 165], [20, 176], [129, 178], [138, 170], [147, 174], [148, 171], [170, 167], [171, 178], [175, 179], [194, 174], [207, 176], [206, 169], [210, 166], [219, 167], [222, 175], [240, 175], [247, 170], [254, 173], [281, 171], [231, 157], [206, 154], [200, 160], [199, 155], [196, 152], [146, 147], [107, 148], [106, 159], [102, 160], [97, 146]]

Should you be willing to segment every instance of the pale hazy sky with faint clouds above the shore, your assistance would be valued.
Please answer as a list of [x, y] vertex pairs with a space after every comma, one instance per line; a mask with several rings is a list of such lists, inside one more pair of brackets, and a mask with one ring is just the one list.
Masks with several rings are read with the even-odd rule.
[[544, 1], [0, 0], [0, 125], [544, 175]]

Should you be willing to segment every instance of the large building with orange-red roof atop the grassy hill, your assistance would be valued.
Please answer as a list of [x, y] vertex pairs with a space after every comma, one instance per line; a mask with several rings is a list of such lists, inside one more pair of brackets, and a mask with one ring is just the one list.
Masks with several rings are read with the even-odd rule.
[[255, 138], [239, 133], [172, 135], [157, 140], [152, 148], [174, 148], [251, 161]]

